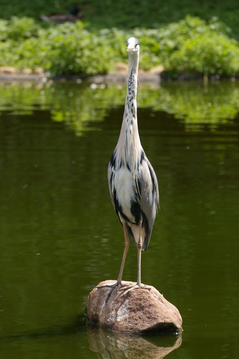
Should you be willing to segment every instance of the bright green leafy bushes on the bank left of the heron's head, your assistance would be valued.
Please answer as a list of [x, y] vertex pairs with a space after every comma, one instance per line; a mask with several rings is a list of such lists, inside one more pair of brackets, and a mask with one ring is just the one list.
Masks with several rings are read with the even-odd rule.
[[[0, 43], [0, 66], [11, 65], [22, 69], [43, 66], [51, 75], [105, 73], [113, 66], [115, 53], [103, 37], [84, 29], [82, 22], [65, 23], [40, 29], [34, 21], [15, 19], [19, 37], [11, 23], [9, 38]], [[24, 24], [24, 26], [22, 26]], [[29, 26], [29, 31], [26, 31]], [[26, 25], [26, 26], [25, 26]], [[2, 27], [6, 23], [2, 23]], [[1, 29], [1, 23], [0, 23]], [[30, 35], [31, 29], [31, 35]], [[33, 29], [35, 33], [33, 35]], [[5, 41], [3, 41], [5, 40]], [[114, 54], [114, 56], [113, 56]]]

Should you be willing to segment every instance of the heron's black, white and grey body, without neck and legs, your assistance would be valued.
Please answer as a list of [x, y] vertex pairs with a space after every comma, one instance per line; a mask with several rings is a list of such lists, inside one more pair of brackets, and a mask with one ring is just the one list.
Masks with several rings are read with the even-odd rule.
[[[135, 127], [131, 129], [132, 134], [135, 130], [138, 135], [137, 123]], [[134, 147], [131, 139], [128, 139], [127, 144], [128, 147]], [[136, 245], [141, 236], [142, 250], [145, 251], [148, 248], [156, 216], [158, 183], [154, 169], [146, 158], [141, 144], [139, 156], [135, 162], [136, 168], [134, 162], [133, 148], [129, 148], [124, 159], [120, 157], [117, 166], [116, 147], [108, 166], [109, 192], [121, 223], [126, 223], [128, 235]]]

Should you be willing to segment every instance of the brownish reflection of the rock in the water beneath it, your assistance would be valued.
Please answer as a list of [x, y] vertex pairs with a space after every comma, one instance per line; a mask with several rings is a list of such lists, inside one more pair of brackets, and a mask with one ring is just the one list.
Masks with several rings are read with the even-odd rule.
[[181, 334], [167, 336], [134, 335], [88, 326], [90, 350], [103, 359], [162, 359], [182, 342]]

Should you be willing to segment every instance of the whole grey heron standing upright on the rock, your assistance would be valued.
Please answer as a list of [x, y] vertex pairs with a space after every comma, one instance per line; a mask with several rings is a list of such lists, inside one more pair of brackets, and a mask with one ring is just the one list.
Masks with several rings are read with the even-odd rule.
[[127, 93], [123, 121], [116, 148], [108, 165], [108, 185], [112, 203], [124, 231], [124, 252], [120, 272], [106, 297], [114, 288], [123, 289], [122, 274], [130, 236], [138, 248], [137, 285], [141, 284], [141, 250], [146, 251], [159, 204], [158, 182], [154, 169], [140, 143], [137, 124], [137, 84], [139, 42], [131, 37], [126, 42], [128, 52]]

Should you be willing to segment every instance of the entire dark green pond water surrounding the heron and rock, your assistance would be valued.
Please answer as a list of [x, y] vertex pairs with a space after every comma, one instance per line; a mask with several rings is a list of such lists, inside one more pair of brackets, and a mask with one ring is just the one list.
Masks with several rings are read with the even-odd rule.
[[[87, 295], [117, 278], [123, 253], [107, 165], [124, 86], [2, 85], [0, 95], [1, 357], [159, 358], [182, 340], [167, 358], [237, 358], [238, 84], [138, 92], [161, 207], [142, 282], [179, 309], [181, 338], [87, 330], [84, 320]], [[136, 278], [131, 242], [123, 279]]]

